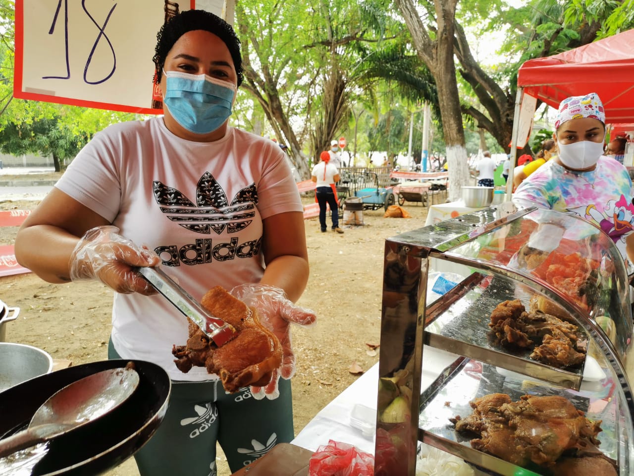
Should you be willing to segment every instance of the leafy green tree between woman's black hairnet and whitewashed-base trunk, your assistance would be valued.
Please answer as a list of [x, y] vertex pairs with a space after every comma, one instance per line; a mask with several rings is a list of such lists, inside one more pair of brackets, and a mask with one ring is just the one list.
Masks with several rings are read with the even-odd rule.
[[429, 74], [403, 41], [403, 25], [389, 15], [388, 1], [307, 7], [298, 0], [265, 0], [238, 3], [236, 15], [243, 88], [264, 110], [278, 140], [290, 146], [304, 176], [307, 159], [346, 132], [353, 103], [378, 118], [379, 83], [410, 100], [434, 95]]

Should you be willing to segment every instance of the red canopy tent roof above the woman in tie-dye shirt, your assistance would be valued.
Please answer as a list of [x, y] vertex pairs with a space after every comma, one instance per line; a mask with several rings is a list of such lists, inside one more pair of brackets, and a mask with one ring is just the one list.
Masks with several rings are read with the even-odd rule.
[[605, 122], [634, 121], [634, 29], [529, 60], [519, 69], [517, 87], [555, 108], [568, 96], [594, 92]]

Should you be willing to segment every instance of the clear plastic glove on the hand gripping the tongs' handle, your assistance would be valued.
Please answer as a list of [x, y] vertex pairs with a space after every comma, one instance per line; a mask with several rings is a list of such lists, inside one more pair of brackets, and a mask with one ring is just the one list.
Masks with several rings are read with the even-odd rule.
[[70, 280], [98, 279], [117, 293], [141, 293], [149, 296], [156, 291], [134, 268], [160, 263], [154, 251], [140, 247], [119, 235], [119, 228], [91, 228], [77, 243], [70, 255]]

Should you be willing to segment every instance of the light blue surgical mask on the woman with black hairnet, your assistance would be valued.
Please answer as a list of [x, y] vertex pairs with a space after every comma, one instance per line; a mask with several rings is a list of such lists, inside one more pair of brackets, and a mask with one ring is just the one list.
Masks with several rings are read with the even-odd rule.
[[235, 84], [206, 74], [165, 71], [163, 103], [174, 120], [194, 134], [209, 134], [231, 116]]

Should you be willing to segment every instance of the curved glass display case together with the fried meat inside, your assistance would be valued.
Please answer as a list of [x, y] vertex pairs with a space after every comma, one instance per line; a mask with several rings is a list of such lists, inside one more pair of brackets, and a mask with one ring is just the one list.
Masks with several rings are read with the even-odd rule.
[[375, 475], [414, 475], [421, 443], [491, 474], [633, 474], [632, 354], [623, 258], [581, 218], [505, 203], [387, 239]]

